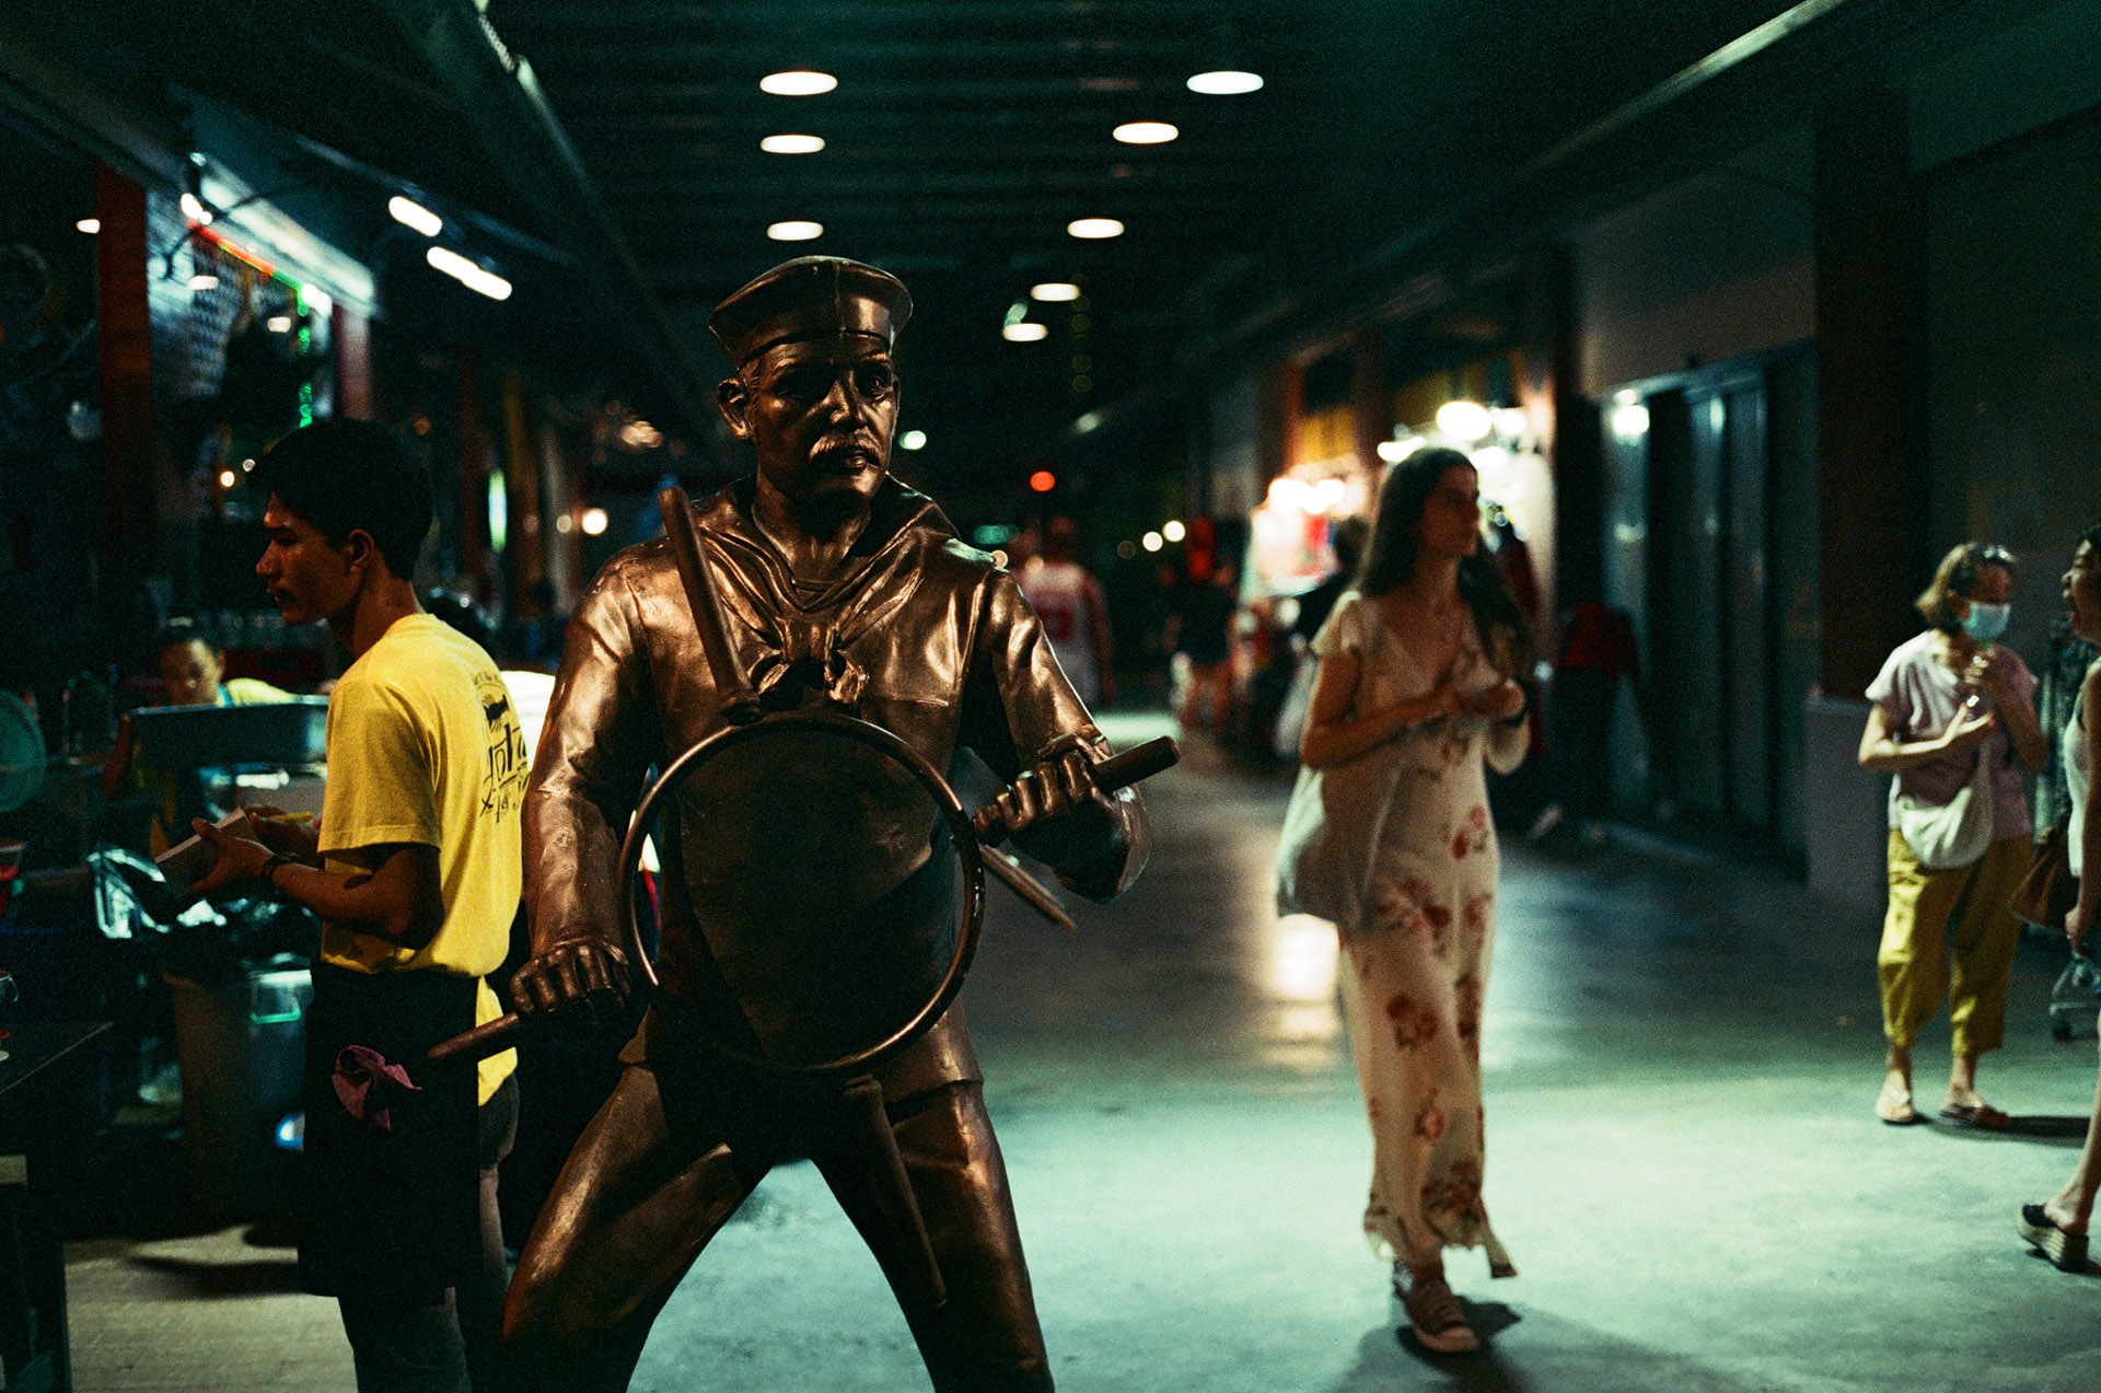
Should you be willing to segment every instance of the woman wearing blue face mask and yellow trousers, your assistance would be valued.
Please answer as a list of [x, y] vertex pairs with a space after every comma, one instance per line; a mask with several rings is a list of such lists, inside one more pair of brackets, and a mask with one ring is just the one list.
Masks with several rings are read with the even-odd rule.
[[1977, 1057], [2006, 1034], [2006, 979], [2021, 937], [2006, 899], [2034, 855], [2021, 767], [2040, 769], [2048, 748], [2032, 704], [2036, 679], [1998, 643], [2011, 601], [2013, 553], [1962, 542], [1918, 597], [1929, 628], [1899, 643], [1868, 685], [1874, 706], [1859, 765], [1897, 775], [1876, 954], [1889, 1072], [1874, 1101], [1874, 1116], [1897, 1126], [1918, 1122], [1912, 1044], [1941, 1000], [1954, 1032], [1941, 1118], [2009, 1122], [1977, 1095]]

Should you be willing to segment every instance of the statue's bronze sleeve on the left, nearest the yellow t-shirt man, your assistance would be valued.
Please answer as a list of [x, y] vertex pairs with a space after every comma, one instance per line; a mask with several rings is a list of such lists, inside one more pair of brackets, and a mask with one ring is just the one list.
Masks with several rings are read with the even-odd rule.
[[582, 937], [620, 941], [620, 840], [658, 746], [639, 605], [616, 559], [569, 620], [525, 792], [534, 952]]

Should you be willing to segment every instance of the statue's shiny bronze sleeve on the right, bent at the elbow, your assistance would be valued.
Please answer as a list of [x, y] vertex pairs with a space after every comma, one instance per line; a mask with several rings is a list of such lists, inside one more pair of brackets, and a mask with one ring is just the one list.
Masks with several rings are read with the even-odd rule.
[[[1006, 571], [994, 571], [979, 595], [960, 733], [962, 744], [977, 750], [1002, 782], [1074, 746], [1095, 761], [1111, 752], [1059, 670], [1036, 611]], [[1088, 899], [1118, 895], [1139, 876], [1151, 851], [1151, 824], [1137, 790], [1111, 794], [1109, 807], [1114, 817], [1103, 819], [1101, 834], [1088, 838], [1080, 855], [1053, 866], [1067, 889]]]

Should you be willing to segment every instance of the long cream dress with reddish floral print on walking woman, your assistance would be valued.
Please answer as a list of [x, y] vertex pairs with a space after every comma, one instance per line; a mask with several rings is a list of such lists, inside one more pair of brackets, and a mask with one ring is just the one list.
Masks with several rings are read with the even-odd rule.
[[[1347, 595], [1313, 651], [1364, 664], [1355, 710], [1435, 687], [1385, 630], [1376, 601]], [[1502, 681], [1473, 618], [1452, 681], [1475, 695]], [[1372, 1193], [1364, 1231], [1380, 1256], [1435, 1263], [1443, 1248], [1488, 1248], [1494, 1275], [1515, 1275], [1481, 1200], [1481, 998], [1496, 941], [1496, 828], [1483, 765], [1511, 771], [1523, 725], [1429, 721], [1395, 735], [1401, 773], [1378, 828], [1359, 922], [1338, 924], [1343, 1013], [1372, 1124]]]

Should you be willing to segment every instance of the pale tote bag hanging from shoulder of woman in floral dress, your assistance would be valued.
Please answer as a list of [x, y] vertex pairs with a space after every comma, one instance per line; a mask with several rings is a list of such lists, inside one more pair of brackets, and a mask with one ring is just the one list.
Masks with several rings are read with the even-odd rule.
[[[1385, 649], [1387, 624], [1378, 620], [1357, 670], [1351, 716], [1372, 689]], [[1372, 847], [1393, 807], [1408, 765], [1403, 742], [1385, 740], [1368, 752], [1328, 769], [1298, 769], [1277, 840], [1277, 912], [1317, 914], [1340, 929], [1355, 929], [1372, 878]]]

